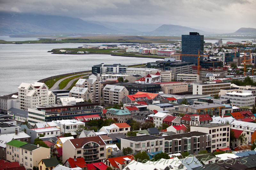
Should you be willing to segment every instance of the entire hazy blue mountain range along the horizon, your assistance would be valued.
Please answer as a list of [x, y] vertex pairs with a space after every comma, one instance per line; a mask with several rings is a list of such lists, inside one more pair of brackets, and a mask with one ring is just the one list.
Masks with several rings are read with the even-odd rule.
[[[201, 29], [178, 25], [161, 24], [129, 24], [84, 21], [80, 18], [50, 15], [0, 13], [0, 35], [23, 34], [111, 34], [111, 35], [143, 35], [143, 36], [181, 36], [189, 32], [203, 35], [216, 35]], [[214, 31], [214, 30], [211, 30]], [[256, 35], [255, 28], [240, 28], [234, 33], [221, 35]]]

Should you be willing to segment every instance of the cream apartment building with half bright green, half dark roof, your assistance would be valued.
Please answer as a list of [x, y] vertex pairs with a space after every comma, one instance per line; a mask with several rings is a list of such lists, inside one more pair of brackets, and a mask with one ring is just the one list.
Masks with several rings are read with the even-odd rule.
[[6, 143], [6, 160], [10, 162], [17, 161], [21, 166], [25, 166], [26, 169], [32, 169], [42, 159], [50, 158], [50, 151], [50, 148], [12, 140]]

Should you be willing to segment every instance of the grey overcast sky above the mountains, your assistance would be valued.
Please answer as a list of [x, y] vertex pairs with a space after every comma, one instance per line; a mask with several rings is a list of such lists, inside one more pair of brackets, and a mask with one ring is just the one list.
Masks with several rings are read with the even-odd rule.
[[0, 0], [0, 11], [83, 20], [256, 28], [256, 0]]

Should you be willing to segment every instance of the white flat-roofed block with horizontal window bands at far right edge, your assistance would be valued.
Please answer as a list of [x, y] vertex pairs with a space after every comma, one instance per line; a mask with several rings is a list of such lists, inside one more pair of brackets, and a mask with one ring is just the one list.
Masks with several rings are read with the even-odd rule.
[[230, 105], [234, 106], [252, 106], [255, 96], [252, 93], [227, 92], [225, 95], [220, 95], [220, 99], [229, 99]]

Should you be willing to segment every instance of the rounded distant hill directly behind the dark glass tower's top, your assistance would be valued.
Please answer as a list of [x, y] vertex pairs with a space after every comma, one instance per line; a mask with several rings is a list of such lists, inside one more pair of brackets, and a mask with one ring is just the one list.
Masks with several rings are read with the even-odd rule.
[[178, 25], [162, 25], [156, 30], [149, 33], [157, 35], [181, 36], [182, 34], [189, 34], [189, 32], [198, 32], [201, 35], [204, 35], [206, 33], [202, 30]]

